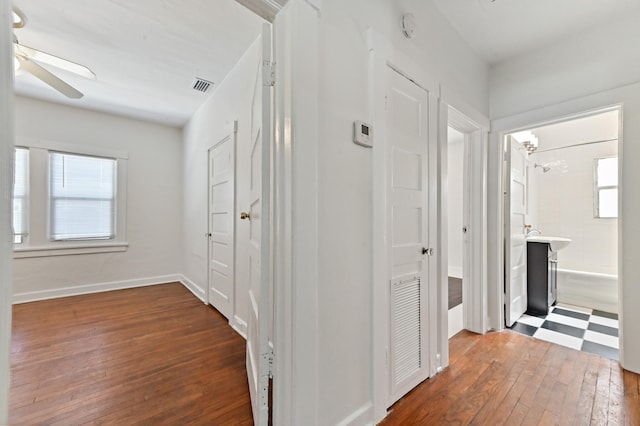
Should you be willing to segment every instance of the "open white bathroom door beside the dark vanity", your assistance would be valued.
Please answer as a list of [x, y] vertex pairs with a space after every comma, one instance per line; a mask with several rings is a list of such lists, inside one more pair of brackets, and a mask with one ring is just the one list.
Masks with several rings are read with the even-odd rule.
[[511, 136], [506, 145], [505, 322], [511, 327], [527, 310], [527, 151]]

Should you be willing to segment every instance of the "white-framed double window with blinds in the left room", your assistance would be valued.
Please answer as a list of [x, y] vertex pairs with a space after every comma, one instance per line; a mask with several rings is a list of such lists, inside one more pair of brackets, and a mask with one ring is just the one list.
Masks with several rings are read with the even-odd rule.
[[127, 152], [22, 137], [17, 145], [14, 258], [127, 250]]

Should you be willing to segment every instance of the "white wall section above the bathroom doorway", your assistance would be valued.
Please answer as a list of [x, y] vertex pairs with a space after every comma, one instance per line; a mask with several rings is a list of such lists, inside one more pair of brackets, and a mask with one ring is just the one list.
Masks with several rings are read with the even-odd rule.
[[495, 64], [491, 119], [638, 81], [638, 13]]

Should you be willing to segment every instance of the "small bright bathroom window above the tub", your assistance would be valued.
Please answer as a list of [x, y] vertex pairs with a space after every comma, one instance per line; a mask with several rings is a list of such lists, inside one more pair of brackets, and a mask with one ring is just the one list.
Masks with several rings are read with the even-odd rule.
[[618, 158], [595, 160], [595, 217], [618, 217]]

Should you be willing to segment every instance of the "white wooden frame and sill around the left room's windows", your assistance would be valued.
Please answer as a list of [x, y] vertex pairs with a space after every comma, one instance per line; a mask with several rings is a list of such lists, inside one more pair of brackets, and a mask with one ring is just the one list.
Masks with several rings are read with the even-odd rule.
[[[16, 146], [29, 149], [29, 236], [14, 244], [14, 258], [64, 256], [126, 251], [127, 152], [102, 147], [18, 138]], [[52, 240], [50, 238], [49, 153], [113, 158], [116, 160], [115, 237], [112, 239]]]

